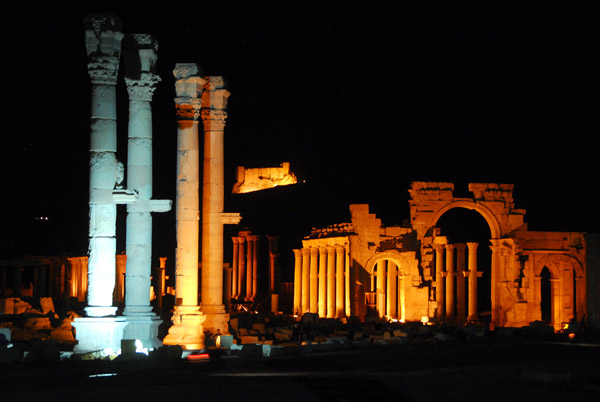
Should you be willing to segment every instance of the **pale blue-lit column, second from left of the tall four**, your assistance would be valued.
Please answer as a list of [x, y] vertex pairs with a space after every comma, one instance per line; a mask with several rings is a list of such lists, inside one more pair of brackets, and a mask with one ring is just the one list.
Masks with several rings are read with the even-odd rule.
[[123, 40], [125, 83], [129, 94], [127, 188], [137, 201], [127, 205], [125, 310], [129, 325], [125, 339], [139, 339], [144, 347], [162, 345], [162, 323], [150, 305], [152, 275], [152, 212], [167, 212], [169, 200], [152, 199], [152, 110], [150, 102], [160, 77], [155, 74], [158, 44], [150, 35], [127, 35]]

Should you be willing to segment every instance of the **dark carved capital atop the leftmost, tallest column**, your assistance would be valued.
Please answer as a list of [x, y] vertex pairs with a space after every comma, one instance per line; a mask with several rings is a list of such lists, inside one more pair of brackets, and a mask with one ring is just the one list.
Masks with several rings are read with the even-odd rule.
[[116, 85], [121, 57], [121, 20], [112, 14], [91, 14], [84, 19], [88, 74], [93, 84]]

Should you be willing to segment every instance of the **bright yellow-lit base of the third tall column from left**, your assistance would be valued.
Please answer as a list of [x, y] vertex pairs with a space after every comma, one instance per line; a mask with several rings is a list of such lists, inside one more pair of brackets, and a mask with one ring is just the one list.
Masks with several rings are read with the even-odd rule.
[[175, 306], [169, 333], [163, 345], [179, 345], [185, 350], [204, 349], [204, 328], [206, 316], [198, 311], [198, 306]]

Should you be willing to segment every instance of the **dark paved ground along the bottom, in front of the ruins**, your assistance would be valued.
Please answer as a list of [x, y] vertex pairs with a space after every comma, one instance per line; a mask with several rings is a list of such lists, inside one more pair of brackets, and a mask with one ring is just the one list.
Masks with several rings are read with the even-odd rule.
[[0, 401], [600, 400], [600, 345], [486, 339], [189, 363], [0, 366]]

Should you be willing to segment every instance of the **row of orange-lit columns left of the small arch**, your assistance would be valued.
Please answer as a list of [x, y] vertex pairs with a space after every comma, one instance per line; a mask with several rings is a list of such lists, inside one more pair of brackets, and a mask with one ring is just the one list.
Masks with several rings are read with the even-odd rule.
[[347, 245], [295, 249], [295, 315], [317, 313], [320, 317], [350, 315], [350, 262]]

